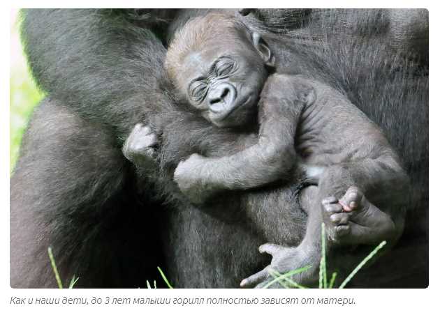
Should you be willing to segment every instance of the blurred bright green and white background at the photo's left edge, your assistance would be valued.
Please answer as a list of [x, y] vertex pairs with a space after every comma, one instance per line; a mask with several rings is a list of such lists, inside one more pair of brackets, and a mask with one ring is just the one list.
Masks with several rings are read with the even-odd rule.
[[18, 10], [10, 13], [10, 169], [13, 170], [20, 141], [33, 107], [43, 98], [29, 73], [19, 35]]

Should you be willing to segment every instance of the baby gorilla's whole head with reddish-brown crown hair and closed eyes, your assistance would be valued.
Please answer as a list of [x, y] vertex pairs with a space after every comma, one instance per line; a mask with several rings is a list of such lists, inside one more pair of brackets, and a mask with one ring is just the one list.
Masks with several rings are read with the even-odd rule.
[[175, 33], [165, 61], [180, 95], [221, 128], [256, 120], [267, 66], [274, 66], [274, 58], [261, 36], [221, 14], [187, 22]]

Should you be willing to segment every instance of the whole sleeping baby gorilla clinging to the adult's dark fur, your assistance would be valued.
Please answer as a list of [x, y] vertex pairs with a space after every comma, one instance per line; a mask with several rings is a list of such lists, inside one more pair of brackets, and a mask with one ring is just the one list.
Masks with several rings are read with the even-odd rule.
[[[269, 268], [284, 273], [309, 263], [313, 270], [307, 278], [315, 277], [322, 221], [329, 247], [398, 238], [404, 218], [395, 214], [402, 213], [408, 178], [381, 130], [341, 93], [300, 75], [272, 72], [268, 44], [226, 15], [196, 18], [177, 31], [165, 67], [179, 95], [214, 125], [235, 131], [251, 129], [256, 119], [260, 125], [257, 143], [247, 140], [238, 153], [222, 158], [194, 154], [180, 162], [174, 180], [193, 203], [225, 190], [267, 185], [287, 178], [296, 167], [318, 183], [301, 193], [309, 215], [302, 243], [295, 248], [262, 245], [261, 252], [272, 254], [272, 264], [241, 286], [265, 280]], [[137, 165], [150, 164], [154, 144], [148, 128], [137, 125], [124, 154]]]

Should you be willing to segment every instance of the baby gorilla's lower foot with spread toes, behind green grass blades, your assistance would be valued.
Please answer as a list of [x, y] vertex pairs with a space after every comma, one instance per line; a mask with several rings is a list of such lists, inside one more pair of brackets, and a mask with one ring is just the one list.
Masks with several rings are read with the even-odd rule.
[[[291, 270], [296, 270], [298, 268], [305, 268], [305, 266], [310, 266], [307, 270], [297, 273], [290, 279], [297, 284], [309, 285], [313, 283], [318, 278], [318, 258], [314, 256], [309, 256], [307, 252], [304, 252], [301, 247], [284, 247], [276, 244], [264, 244], [259, 247], [259, 252], [261, 254], [267, 253], [272, 255], [272, 263], [266, 266], [260, 272], [243, 279], [240, 283], [241, 287], [254, 287], [256, 289], [262, 289], [268, 283], [274, 279], [274, 273], [285, 274]], [[279, 288], [281, 284], [275, 282], [271, 284], [272, 288]]]

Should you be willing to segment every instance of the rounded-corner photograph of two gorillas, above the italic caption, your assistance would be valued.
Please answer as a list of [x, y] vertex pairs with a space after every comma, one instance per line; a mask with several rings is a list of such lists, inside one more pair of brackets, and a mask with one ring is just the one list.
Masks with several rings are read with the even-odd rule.
[[10, 287], [427, 288], [428, 16], [12, 10]]

